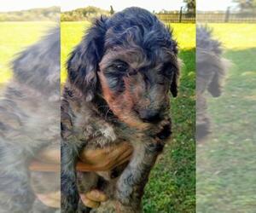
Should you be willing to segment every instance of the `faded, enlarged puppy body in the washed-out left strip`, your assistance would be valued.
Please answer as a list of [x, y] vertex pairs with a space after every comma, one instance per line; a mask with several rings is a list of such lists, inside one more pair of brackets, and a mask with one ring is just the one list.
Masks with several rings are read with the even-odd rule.
[[28, 168], [43, 148], [60, 147], [60, 30], [21, 52], [13, 72], [0, 100], [0, 212], [55, 212], [34, 193], [60, 190], [60, 172]]

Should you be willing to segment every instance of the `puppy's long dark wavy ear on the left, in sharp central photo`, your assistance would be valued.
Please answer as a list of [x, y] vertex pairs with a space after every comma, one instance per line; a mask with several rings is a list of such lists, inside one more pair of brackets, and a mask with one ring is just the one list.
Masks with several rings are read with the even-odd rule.
[[86, 101], [91, 101], [96, 93], [96, 72], [104, 51], [107, 20], [101, 17], [94, 22], [67, 61], [68, 80], [81, 90]]

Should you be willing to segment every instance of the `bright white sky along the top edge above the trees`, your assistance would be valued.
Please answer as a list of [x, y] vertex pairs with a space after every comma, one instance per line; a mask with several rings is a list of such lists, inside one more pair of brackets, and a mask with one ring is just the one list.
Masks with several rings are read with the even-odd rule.
[[[232, 0], [196, 0], [198, 10], [225, 10], [234, 5]], [[61, 11], [67, 11], [86, 6], [96, 6], [110, 9], [113, 5], [115, 11], [131, 6], [142, 7], [149, 11], [158, 12], [162, 9], [179, 10], [184, 7], [183, 0], [1, 0], [0, 11], [15, 11], [22, 9], [46, 8], [60, 6]]]

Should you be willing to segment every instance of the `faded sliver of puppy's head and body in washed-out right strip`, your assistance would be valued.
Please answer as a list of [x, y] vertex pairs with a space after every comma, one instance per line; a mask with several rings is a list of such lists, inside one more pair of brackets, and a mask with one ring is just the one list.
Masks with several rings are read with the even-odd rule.
[[221, 95], [224, 75], [229, 61], [222, 56], [222, 46], [212, 38], [207, 26], [196, 28], [196, 140], [202, 141], [211, 132], [207, 115], [207, 91]]

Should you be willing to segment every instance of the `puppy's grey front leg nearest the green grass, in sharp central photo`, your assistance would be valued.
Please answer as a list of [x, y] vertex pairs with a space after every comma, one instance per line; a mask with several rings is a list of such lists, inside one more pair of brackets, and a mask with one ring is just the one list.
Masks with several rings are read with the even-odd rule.
[[134, 153], [117, 183], [116, 199], [119, 200], [119, 212], [142, 212], [141, 200], [148, 175], [163, 145], [153, 138], [135, 141]]

